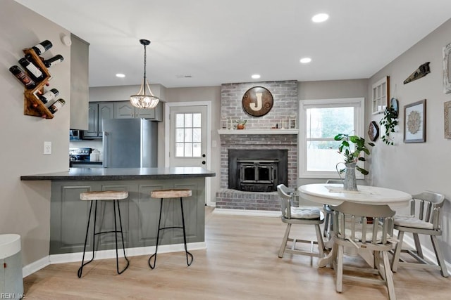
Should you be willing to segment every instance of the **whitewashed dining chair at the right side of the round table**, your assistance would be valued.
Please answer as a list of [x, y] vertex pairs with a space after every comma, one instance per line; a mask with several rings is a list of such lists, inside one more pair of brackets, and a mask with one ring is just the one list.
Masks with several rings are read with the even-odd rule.
[[[445, 195], [425, 191], [418, 195], [413, 195], [410, 202], [410, 214], [408, 216], [395, 215], [393, 226], [398, 230], [395, 252], [392, 260], [392, 270], [397, 271], [398, 266], [414, 267], [414, 268], [432, 268], [440, 270], [443, 277], [448, 277], [443, 253], [440, 250], [437, 236], [442, 235], [440, 209], [443, 207]], [[415, 249], [402, 249], [404, 233], [412, 233], [414, 237]], [[419, 235], [429, 235], [431, 237], [432, 246], [435, 252], [437, 263], [426, 261]], [[401, 253], [407, 253], [412, 256], [416, 262], [404, 261]]]

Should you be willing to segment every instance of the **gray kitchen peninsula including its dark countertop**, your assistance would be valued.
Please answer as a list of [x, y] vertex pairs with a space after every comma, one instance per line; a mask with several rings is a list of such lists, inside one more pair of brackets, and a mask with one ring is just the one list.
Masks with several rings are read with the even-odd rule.
[[[70, 168], [49, 174], [20, 176], [22, 181], [51, 181], [50, 254], [82, 252], [85, 242], [89, 202], [80, 193], [96, 190], [126, 190], [128, 200], [120, 202], [125, 247], [149, 247], [156, 244], [158, 200], [152, 190], [187, 188], [192, 197], [183, 200], [188, 243], [204, 243], [205, 181], [213, 171], [201, 167], [175, 168]], [[98, 218], [100, 216], [99, 211]], [[112, 205], [102, 202], [102, 230], [113, 228]], [[179, 226], [180, 204], [164, 202], [163, 214], [174, 214], [173, 226]], [[99, 222], [99, 221], [98, 221]], [[181, 221], [180, 221], [181, 225]], [[179, 230], [168, 230], [162, 245], [183, 244]], [[90, 243], [89, 243], [90, 244]], [[102, 237], [99, 249], [114, 249], [114, 235]]]

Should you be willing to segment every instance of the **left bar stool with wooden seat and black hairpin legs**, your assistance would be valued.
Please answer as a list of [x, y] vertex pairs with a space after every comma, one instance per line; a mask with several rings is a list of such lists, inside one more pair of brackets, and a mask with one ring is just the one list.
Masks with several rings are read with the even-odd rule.
[[[125, 256], [124, 235], [123, 235], [122, 221], [121, 221], [121, 209], [119, 208], [119, 200], [127, 199], [127, 197], [128, 197], [128, 192], [115, 191], [115, 190], [105, 190], [105, 191], [101, 191], [101, 192], [80, 193], [80, 200], [91, 201], [91, 205], [89, 207], [89, 214], [88, 214], [88, 218], [87, 218], [85, 246], [83, 247], [82, 265], [78, 269], [78, 278], [82, 277], [83, 267], [94, 260], [95, 237], [96, 237], [96, 235], [101, 235], [101, 234], [104, 234], [104, 233], [114, 233], [114, 236], [116, 238], [116, 270], [117, 270], [118, 274], [122, 274], [123, 271], [125, 271], [128, 268], [128, 265], [130, 264], [130, 261], [128, 261], [127, 256]], [[113, 200], [114, 230], [101, 231], [99, 233], [96, 233], [97, 202], [99, 202], [99, 201], [108, 201], [108, 200]], [[94, 202], [95, 202], [95, 205], [94, 205], [94, 233], [92, 235], [92, 259], [85, 263], [86, 243], [87, 243], [87, 235], [89, 233], [89, 223], [90, 223], [89, 221], [91, 220], [92, 204], [94, 204]], [[121, 230], [118, 230], [117, 224], [116, 224], [116, 207], [118, 207], [119, 226], [120, 226]], [[118, 259], [118, 233], [121, 233], [122, 248], [123, 248], [123, 252], [124, 252], [124, 258], [125, 258], [125, 261], [127, 261], [127, 266], [125, 266], [125, 268], [123, 268], [123, 270], [121, 270], [121, 271], [119, 271], [119, 259]]]

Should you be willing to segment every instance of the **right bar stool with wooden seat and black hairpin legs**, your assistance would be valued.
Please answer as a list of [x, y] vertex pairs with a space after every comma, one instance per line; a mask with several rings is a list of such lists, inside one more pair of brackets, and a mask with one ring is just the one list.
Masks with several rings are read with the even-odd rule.
[[[192, 254], [190, 252], [188, 252], [187, 247], [186, 247], [185, 217], [183, 216], [183, 197], [190, 197], [191, 195], [192, 195], [192, 191], [186, 190], [186, 189], [153, 190], [150, 193], [151, 197], [160, 198], [160, 216], [159, 216], [159, 221], [158, 221], [158, 231], [156, 233], [156, 246], [155, 246], [155, 253], [149, 257], [149, 267], [150, 268], [152, 268], [152, 269], [155, 268], [156, 251], [158, 250], [160, 231], [165, 230], [165, 229], [171, 229], [171, 228], [183, 229], [183, 244], [185, 245], [186, 263], [188, 266], [191, 266], [191, 263], [192, 263], [194, 257], [192, 256]], [[178, 198], [178, 197], [180, 197], [180, 211], [182, 212], [182, 227], [169, 226], [169, 227], [161, 228], [161, 209], [163, 208], [163, 199]], [[188, 259], [188, 256], [191, 258], [191, 260]], [[154, 257], [153, 264], [152, 264], [152, 257]]]

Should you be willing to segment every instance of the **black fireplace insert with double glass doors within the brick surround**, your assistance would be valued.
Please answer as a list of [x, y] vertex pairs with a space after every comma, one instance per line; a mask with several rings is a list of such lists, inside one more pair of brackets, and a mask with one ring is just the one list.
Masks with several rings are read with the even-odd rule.
[[273, 192], [288, 181], [287, 150], [229, 150], [228, 188], [248, 192]]

